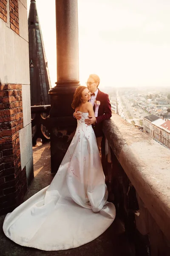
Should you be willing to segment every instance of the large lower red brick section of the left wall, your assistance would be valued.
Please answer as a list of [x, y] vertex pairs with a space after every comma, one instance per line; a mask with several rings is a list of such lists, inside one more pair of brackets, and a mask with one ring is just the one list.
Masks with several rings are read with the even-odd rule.
[[21, 84], [0, 85], [0, 214], [17, 207], [27, 191], [26, 169], [21, 169], [20, 159], [21, 88]]

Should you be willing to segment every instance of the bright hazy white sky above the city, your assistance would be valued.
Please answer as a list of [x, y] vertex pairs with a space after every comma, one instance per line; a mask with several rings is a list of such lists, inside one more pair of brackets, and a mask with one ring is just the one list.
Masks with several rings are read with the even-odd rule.
[[[79, 80], [100, 86], [170, 87], [169, 0], [77, 0]], [[28, 0], [28, 11], [29, 11]], [[55, 0], [37, 0], [51, 86], [57, 81]], [[50, 7], [50, 8], [49, 8]]]

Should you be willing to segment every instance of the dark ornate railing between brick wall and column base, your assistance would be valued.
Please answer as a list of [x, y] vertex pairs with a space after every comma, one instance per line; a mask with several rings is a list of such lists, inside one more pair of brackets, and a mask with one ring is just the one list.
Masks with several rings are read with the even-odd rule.
[[51, 105], [31, 106], [32, 145], [36, 145], [40, 138], [42, 143], [50, 140], [48, 119]]

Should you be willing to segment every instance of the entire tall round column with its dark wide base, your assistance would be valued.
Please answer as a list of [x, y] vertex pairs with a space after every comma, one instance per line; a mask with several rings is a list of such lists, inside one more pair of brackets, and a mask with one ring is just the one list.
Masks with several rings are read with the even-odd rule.
[[57, 82], [49, 90], [51, 172], [57, 172], [74, 136], [77, 121], [71, 108], [79, 85], [77, 0], [56, 0]]

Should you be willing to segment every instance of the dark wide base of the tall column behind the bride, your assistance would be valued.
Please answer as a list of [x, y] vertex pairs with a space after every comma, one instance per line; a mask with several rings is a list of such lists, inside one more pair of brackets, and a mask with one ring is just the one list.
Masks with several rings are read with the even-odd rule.
[[79, 81], [57, 82], [56, 87], [49, 90], [51, 111], [49, 113], [51, 141], [51, 172], [57, 172], [63, 157], [71, 143], [77, 127], [74, 109], [71, 108], [73, 96]]

